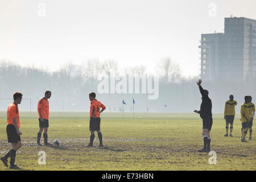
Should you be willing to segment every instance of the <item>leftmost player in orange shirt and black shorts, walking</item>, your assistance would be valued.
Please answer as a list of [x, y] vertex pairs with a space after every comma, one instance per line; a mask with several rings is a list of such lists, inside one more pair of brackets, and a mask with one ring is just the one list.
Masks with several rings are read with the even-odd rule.
[[11, 143], [11, 150], [1, 158], [3, 164], [8, 167], [8, 158], [10, 157], [10, 169], [20, 169], [15, 163], [16, 151], [22, 146], [20, 135], [22, 133], [19, 131], [20, 121], [19, 121], [19, 109], [18, 104], [22, 101], [22, 93], [15, 92], [13, 94], [13, 100], [7, 109], [7, 139], [8, 143]]

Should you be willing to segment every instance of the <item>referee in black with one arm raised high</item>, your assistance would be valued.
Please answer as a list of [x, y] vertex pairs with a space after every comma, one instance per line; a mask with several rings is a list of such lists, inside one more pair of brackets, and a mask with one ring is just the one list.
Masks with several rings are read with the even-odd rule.
[[199, 152], [209, 152], [210, 151], [210, 130], [212, 129], [212, 101], [208, 97], [208, 90], [204, 90], [201, 86], [202, 80], [200, 79], [197, 83], [199, 86], [200, 93], [202, 95], [202, 103], [200, 110], [194, 110], [195, 113], [200, 114], [203, 119], [203, 131], [202, 135], [204, 138], [204, 147], [199, 150]]

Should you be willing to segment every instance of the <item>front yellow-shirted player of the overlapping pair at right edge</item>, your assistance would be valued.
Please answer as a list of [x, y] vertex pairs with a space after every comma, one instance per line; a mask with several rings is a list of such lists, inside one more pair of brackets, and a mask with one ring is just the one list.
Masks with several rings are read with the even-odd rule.
[[252, 118], [252, 112], [251, 112], [251, 105], [250, 104], [250, 97], [245, 96], [245, 102], [241, 105], [241, 122], [242, 122], [242, 137], [241, 137], [241, 142], [247, 142], [245, 140], [247, 131], [251, 127], [251, 123], [253, 121]]

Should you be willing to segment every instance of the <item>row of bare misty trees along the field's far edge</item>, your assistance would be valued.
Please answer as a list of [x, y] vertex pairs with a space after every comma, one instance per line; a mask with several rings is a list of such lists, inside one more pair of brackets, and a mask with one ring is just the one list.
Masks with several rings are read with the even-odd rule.
[[[118, 75], [143, 76], [148, 74], [143, 65], [120, 69], [118, 62], [108, 60], [100, 63], [98, 60], [87, 60], [81, 65], [69, 62], [54, 72], [48, 72], [34, 66], [21, 67], [11, 61], [0, 60], [0, 110], [6, 110], [16, 91], [23, 93], [23, 98], [31, 99], [31, 109], [36, 110], [38, 100], [44, 96], [46, 90], [51, 90], [51, 110], [89, 110], [89, 92], [96, 92], [98, 100], [102, 101], [108, 111], [122, 110], [122, 100], [125, 100], [125, 110], [130, 111], [135, 100], [135, 111], [152, 112], [192, 112], [200, 107], [200, 92], [196, 86], [199, 77], [184, 78], [181, 76], [179, 64], [170, 58], [164, 58], [156, 64], [155, 75], [159, 76], [159, 97], [148, 100], [147, 93], [117, 94], [97, 92], [97, 85], [101, 76], [115, 77]], [[203, 82], [204, 88], [209, 90], [213, 101], [213, 111], [222, 112], [229, 94], [234, 94], [238, 102], [243, 101], [247, 94], [253, 96], [255, 85], [246, 83]], [[164, 107], [167, 105], [167, 107]], [[23, 100], [19, 106], [22, 110], [30, 109], [30, 102]]]

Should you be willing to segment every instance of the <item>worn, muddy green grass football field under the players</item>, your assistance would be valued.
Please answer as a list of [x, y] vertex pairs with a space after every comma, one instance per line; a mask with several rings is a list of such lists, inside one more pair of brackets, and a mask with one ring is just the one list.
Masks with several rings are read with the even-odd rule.
[[[6, 112], [0, 112], [0, 155], [10, 150], [6, 136]], [[140, 118], [141, 117], [141, 118]], [[89, 117], [85, 112], [52, 112], [48, 138], [60, 146], [36, 146], [36, 112], [20, 112], [23, 146], [16, 164], [24, 170], [256, 170], [256, 131], [253, 140], [242, 143], [240, 115], [234, 121], [234, 137], [224, 137], [222, 114], [213, 115], [211, 149], [217, 164], [210, 165], [202, 147], [202, 121], [197, 114], [102, 113], [104, 148], [89, 143]], [[253, 126], [254, 127], [254, 126]], [[41, 139], [43, 143], [43, 136]], [[98, 136], [94, 139], [98, 146]], [[46, 164], [39, 165], [39, 151], [46, 152]], [[10, 160], [10, 158], [9, 158]], [[9, 170], [2, 162], [0, 170]]]

